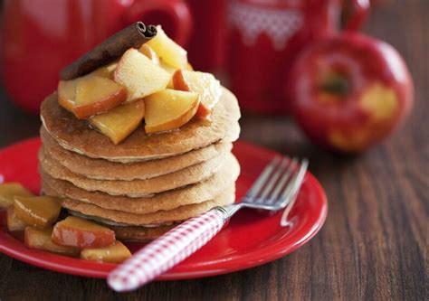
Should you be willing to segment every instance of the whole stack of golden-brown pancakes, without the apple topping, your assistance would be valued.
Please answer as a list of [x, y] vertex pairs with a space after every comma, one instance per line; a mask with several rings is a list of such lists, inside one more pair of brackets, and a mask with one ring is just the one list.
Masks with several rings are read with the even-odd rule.
[[153, 135], [141, 126], [117, 146], [60, 107], [56, 94], [44, 100], [41, 118], [43, 193], [62, 197], [73, 215], [110, 225], [118, 239], [151, 240], [234, 202], [240, 110], [227, 89], [210, 120]]

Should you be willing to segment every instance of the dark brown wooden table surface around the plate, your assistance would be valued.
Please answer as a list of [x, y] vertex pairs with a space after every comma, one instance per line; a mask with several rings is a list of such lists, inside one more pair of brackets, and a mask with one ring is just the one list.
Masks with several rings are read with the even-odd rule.
[[[427, 300], [429, 1], [378, 6], [365, 31], [392, 43], [415, 80], [415, 108], [384, 143], [355, 157], [312, 146], [288, 118], [244, 116], [242, 139], [310, 158], [328, 194], [319, 234], [291, 255], [219, 277], [151, 283], [115, 294], [103, 280], [34, 268], [0, 255], [0, 299]], [[36, 136], [37, 117], [0, 92], [0, 146]]]

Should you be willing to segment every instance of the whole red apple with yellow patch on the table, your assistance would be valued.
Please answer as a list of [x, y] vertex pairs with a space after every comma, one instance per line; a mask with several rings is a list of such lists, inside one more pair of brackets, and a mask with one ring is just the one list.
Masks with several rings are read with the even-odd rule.
[[413, 106], [413, 81], [386, 42], [344, 33], [302, 52], [291, 70], [294, 118], [320, 146], [359, 152], [388, 136]]

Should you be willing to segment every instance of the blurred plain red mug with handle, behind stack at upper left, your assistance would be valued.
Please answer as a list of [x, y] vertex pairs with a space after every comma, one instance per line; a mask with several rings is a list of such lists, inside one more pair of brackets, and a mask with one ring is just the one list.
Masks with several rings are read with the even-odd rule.
[[142, 20], [185, 44], [192, 17], [183, 0], [5, 0], [2, 58], [6, 92], [38, 113], [58, 72], [112, 33]]

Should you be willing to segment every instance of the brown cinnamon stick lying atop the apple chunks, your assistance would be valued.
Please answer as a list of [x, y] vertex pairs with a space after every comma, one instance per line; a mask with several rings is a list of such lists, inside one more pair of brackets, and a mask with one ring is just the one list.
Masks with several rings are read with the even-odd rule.
[[156, 34], [157, 29], [154, 25], [146, 26], [142, 22], [131, 24], [62, 69], [60, 78], [73, 80], [88, 74], [110, 61], [115, 61], [129, 48], [139, 48]]

